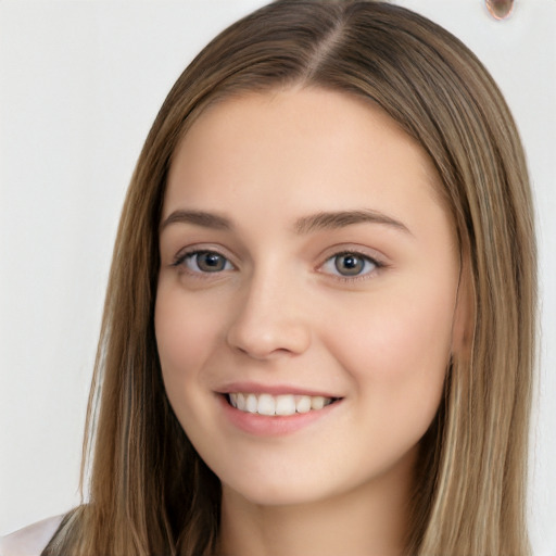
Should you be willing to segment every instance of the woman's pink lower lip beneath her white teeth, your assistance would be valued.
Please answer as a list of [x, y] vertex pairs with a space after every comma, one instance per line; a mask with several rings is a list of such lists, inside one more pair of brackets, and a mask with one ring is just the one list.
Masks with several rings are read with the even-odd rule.
[[339, 400], [323, 407], [323, 409], [312, 409], [307, 413], [282, 416], [241, 412], [232, 407], [225, 395], [220, 394], [218, 399], [228, 421], [243, 432], [257, 437], [280, 437], [296, 432], [326, 417], [341, 403]]

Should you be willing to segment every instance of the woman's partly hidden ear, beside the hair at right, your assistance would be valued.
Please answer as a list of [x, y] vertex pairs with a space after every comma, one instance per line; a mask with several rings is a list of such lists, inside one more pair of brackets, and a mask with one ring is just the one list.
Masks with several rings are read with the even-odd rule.
[[462, 254], [454, 320], [452, 324], [452, 354], [459, 359], [471, 355], [475, 331], [475, 285], [468, 257]]

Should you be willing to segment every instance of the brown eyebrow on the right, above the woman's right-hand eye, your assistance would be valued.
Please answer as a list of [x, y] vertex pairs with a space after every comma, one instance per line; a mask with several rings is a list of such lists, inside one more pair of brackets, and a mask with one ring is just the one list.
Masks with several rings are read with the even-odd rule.
[[365, 223], [382, 224], [413, 236], [405, 224], [370, 208], [363, 211], [321, 212], [311, 216], [303, 216], [295, 222], [294, 229], [296, 233], [305, 235], [316, 230], [338, 229]]

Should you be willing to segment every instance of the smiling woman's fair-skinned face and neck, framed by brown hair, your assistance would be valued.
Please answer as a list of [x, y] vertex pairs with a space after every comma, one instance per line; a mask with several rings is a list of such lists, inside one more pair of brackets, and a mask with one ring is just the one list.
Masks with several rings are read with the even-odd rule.
[[438, 187], [386, 114], [315, 88], [214, 104], [181, 141], [155, 330], [223, 555], [402, 553], [463, 318]]

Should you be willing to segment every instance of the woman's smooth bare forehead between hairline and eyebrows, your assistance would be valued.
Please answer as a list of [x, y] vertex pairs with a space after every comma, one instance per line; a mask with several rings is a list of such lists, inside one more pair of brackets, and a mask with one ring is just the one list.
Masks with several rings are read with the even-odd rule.
[[257, 212], [291, 199], [301, 213], [362, 203], [392, 213], [437, 204], [439, 181], [422, 148], [365, 99], [318, 88], [248, 93], [212, 104], [187, 131], [163, 217], [207, 202], [226, 211], [238, 197], [256, 199]]

